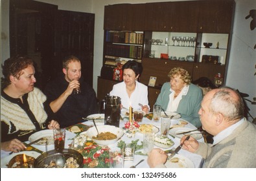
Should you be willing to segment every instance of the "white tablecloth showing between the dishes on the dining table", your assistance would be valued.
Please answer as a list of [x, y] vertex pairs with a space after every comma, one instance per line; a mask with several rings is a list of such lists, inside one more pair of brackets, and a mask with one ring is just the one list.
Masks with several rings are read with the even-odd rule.
[[[182, 118], [178, 118], [178, 119], [174, 119], [171, 120], [171, 127], [172, 125], [177, 125], [180, 120], [183, 120]], [[128, 117], [122, 116], [122, 119], [119, 122], [119, 127], [124, 128], [124, 124], [126, 122], [129, 121]], [[86, 125], [87, 127], [93, 127], [94, 124], [92, 122], [92, 120], [81, 120], [81, 125]], [[160, 134], [160, 127], [161, 127], [161, 122], [155, 122], [154, 120], [151, 120], [149, 118], [147, 118], [146, 116], [143, 117], [143, 120], [141, 122], [139, 122], [139, 124], [152, 124], [155, 127], [157, 127], [159, 129], [159, 131], [157, 131], [156, 134]], [[191, 123], [187, 123], [187, 125], [184, 125], [185, 128], [188, 129], [196, 129], [196, 127], [194, 127], [194, 125], [192, 125]], [[66, 131], [66, 135], [65, 135], [65, 148], [70, 148], [71, 144], [73, 142], [73, 138], [75, 138], [75, 136], [77, 135], [77, 133], [72, 133], [71, 131], [69, 131], [70, 129], [67, 129]], [[170, 131], [172, 130], [172, 128], [170, 128]], [[175, 137], [173, 135], [168, 135], [168, 137], [174, 142], [174, 145], [172, 145], [172, 147], [178, 147], [180, 145], [180, 138]], [[135, 133], [134, 136], [132, 136], [132, 138], [130, 138], [129, 136], [127, 136], [126, 134], [123, 134], [123, 136], [120, 138], [120, 140], [118, 140], [117, 142], [115, 142], [115, 144], [111, 144], [108, 145], [108, 147], [110, 147], [110, 149], [119, 149], [118, 147], [118, 142], [120, 141], [125, 142], [126, 144], [129, 144], [130, 142], [132, 142], [132, 140], [139, 140], [139, 142], [137, 142], [138, 144], [142, 144], [143, 142], [143, 133]], [[204, 137], [202, 136], [202, 138], [198, 139], [198, 142], [204, 142]], [[29, 141], [25, 142], [26, 144], [29, 144]], [[32, 147], [34, 147], [35, 149], [38, 149], [39, 151], [41, 151], [42, 153], [45, 151], [49, 151], [54, 149], [54, 144], [49, 144], [47, 145], [47, 147], [45, 147], [45, 145], [38, 145], [38, 144], [32, 144]], [[172, 149], [172, 147], [169, 148], [161, 148], [164, 151], [165, 150], [169, 150]], [[157, 148], [156, 145], [154, 145], [154, 148]], [[142, 151], [143, 152], [143, 151]], [[7, 151], [3, 151], [1, 150], [1, 158], [8, 156], [10, 152]], [[179, 153], [181, 156], [184, 156], [185, 158], [188, 158], [189, 160], [192, 161], [193, 165], [195, 168], [199, 168], [202, 167], [202, 164], [204, 163], [204, 159], [202, 158], [202, 156], [198, 155], [198, 154], [194, 154], [194, 153], [190, 153], [189, 151], [186, 151], [184, 149], [181, 149], [179, 151]], [[144, 160], [143, 162], [141, 162], [139, 165], [136, 166], [136, 168], [149, 168], [149, 165], [147, 163], [147, 155], [146, 154], [136, 154], [135, 152], [135, 156], [134, 156], [134, 161], [124, 161], [124, 168], [129, 168], [132, 165], [137, 164], [138, 162], [140, 162], [141, 160]]]

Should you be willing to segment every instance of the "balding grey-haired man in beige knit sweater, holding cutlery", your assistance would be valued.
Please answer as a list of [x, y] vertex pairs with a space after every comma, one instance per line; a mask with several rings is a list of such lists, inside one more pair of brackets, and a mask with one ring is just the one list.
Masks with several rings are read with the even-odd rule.
[[[214, 136], [213, 144], [192, 137], [184, 142], [187, 136], [183, 136], [183, 149], [200, 154], [205, 159], [203, 167], [256, 167], [256, 125], [244, 118], [244, 102], [237, 91], [228, 87], [209, 91], [198, 114], [202, 128]], [[165, 167], [163, 158], [167, 158], [165, 153], [154, 149], [148, 165]]]

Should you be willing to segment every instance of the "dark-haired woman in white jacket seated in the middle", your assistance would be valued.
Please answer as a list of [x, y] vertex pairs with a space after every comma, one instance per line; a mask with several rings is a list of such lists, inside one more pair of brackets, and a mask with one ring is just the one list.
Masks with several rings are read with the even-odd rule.
[[[110, 96], [119, 96], [122, 107], [128, 108], [131, 105], [134, 111], [142, 110], [147, 113], [150, 109], [148, 105], [148, 87], [137, 81], [142, 69], [141, 63], [135, 60], [127, 61], [122, 66], [123, 81], [113, 85]], [[139, 103], [143, 106], [141, 107]]]

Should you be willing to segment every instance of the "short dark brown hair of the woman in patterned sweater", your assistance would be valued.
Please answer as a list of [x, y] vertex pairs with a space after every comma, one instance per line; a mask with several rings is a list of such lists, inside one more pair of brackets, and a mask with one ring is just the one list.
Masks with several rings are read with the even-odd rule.
[[29, 67], [29, 65], [34, 66], [34, 62], [27, 56], [17, 55], [6, 59], [2, 65], [3, 75], [5, 76], [5, 78], [1, 79], [2, 89], [5, 89], [5, 87], [10, 85], [10, 76], [14, 76], [19, 79], [22, 74], [21, 71]]

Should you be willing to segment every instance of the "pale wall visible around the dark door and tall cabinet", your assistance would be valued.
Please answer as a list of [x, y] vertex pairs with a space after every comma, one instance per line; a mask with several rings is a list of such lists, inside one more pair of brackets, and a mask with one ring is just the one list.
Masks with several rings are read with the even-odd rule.
[[[8, 1], [8, 0], [2, 0]], [[95, 41], [94, 41], [94, 68], [93, 68], [93, 88], [97, 92], [97, 76], [100, 76], [103, 57], [103, 22], [104, 22], [104, 6], [119, 3], [150, 3], [163, 2], [167, 0], [38, 0], [53, 5], [58, 5], [60, 10], [71, 10], [78, 12], [89, 12], [95, 14]], [[179, 1], [179, 0], [178, 0]], [[232, 35], [231, 52], [229, 57], [229, 67], [227, 71], [226, 85], [239, 89], [250, 95], [248, 98], [252, 100], [256, 97], [256, 50], [253, 49], [256, 43], [256, 29], [250, 30], [250, 19], [245, 19], [251, 9], [256, 9], [255, 0], [235, 0], [235, 21]], [[3, 14], [4, 12], [4, 14]], [[3, 28], [3, 25], [5, 28]], [[2, 3], [2, 32], [7, 36], [4, 39], [5, 44], [1, 43], [1, 59], [8, 58], [8, 7], [3, 7]], [[1, 39], [3, 41], [3, 39]], [[2, 46], [4, 45], [4, 46]], [[251, 114], [256, 117], [256, 105], [248, 106]]]

